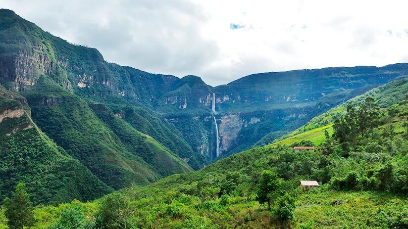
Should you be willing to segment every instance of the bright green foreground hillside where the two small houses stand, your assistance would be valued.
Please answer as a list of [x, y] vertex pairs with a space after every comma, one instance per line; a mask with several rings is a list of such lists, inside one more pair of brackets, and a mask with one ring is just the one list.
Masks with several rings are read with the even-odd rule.
[[[234, 154], [197, 172], [92, 203], [37, 208], [35, 228], [71, 219], [90, 228], [405, 229], [407, 88], [406, 79], [378, 87], [311, 120], [290, 141]], [[323, 139], [308, 138], [328, 125], [333, 134], [323, 130]], [[294, 152], [293, 145], [316, 150]], [[305, 190], [301, 180], [320, 186]]]

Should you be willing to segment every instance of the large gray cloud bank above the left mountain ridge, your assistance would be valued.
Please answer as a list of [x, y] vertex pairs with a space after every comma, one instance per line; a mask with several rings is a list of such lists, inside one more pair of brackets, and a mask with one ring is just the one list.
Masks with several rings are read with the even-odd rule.
[[200, 75], [218, 55], [200, 34], [204, 13], [186, 0], [0, 2], [55, 36], [98, 48], [107, 61], [149, 72]]

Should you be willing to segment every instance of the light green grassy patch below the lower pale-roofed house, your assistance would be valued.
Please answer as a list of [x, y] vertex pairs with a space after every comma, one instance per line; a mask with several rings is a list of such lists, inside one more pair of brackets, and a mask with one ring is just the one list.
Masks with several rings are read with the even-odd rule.
[[[332, 206], [336, 200], [342, 203]], [[297, 225], [313, 229], [383, 229], [382, 211], [407, 211], [408, 199], [381, 192], [310, 191], [299, 196]]]

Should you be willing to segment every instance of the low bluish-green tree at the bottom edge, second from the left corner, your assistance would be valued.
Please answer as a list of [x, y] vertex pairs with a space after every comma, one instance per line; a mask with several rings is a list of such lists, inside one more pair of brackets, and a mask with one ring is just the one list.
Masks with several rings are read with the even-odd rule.
[[84, 229], [85, 216], [78, 206], [62, 211], [58, 221], [51, 229]]

